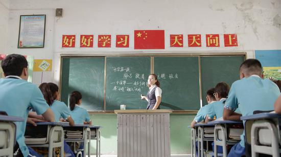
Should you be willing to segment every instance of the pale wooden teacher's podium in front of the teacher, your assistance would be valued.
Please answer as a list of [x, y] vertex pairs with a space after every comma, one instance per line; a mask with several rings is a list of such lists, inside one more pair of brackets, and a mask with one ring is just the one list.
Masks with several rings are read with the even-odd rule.
[[171, 156], [171, 110], [114, 110], [118, 156]]

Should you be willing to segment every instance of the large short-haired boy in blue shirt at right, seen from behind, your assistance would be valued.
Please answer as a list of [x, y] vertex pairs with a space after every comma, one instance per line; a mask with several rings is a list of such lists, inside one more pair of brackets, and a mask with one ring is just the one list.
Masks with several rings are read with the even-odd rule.
[[[262, 79], [262, 65], [259, 60], [247, 59], [239, 69], [240, 80], [235, 81], [226, 100], [224, 120], [240, 120], [240, 117], [252, 115], [254, 110], [273, 110], [273, 104], [280, 91], [275, 83], [269, 79]], [[234, 112], [237, 108], [242, 114]], [[228, 156], [245, 155], [245, 133], [240, 143], [234, 145]]]

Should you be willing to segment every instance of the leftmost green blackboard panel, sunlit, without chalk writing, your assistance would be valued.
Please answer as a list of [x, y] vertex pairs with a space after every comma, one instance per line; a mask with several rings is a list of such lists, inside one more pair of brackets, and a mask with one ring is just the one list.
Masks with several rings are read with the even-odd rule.
[[86, 110], [104, 110], [104, 57], [62, 58], [61, 101], [68, 104], [69, 94], [82, 94]]

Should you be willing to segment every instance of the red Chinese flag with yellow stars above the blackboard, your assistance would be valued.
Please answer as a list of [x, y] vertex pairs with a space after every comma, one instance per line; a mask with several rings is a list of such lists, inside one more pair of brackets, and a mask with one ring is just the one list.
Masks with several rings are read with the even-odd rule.
[[165, 49], [164, 30], [135, 30], [134, 49]]

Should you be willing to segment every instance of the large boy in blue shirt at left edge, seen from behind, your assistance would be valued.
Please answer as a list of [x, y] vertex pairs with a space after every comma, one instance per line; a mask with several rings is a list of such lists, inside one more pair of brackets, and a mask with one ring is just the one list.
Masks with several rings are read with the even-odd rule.
[[[39, 88], [27, 82], [28, 62], [19, 54], [10, 54], [2, 61], [2, 69], [6, 78], [0, 79], [0, 110], [10, 116], [24, 118], [24, 122], [16, 124], [16, 142], [19, 149], [16, 156], [40, 156], [25, 144], [26, 123], [29, 108], [41, 114], [45, 120], [54, 121], [54, 113], [46, 104]], [[34, 122], [29, 118], [30, 122]]]

